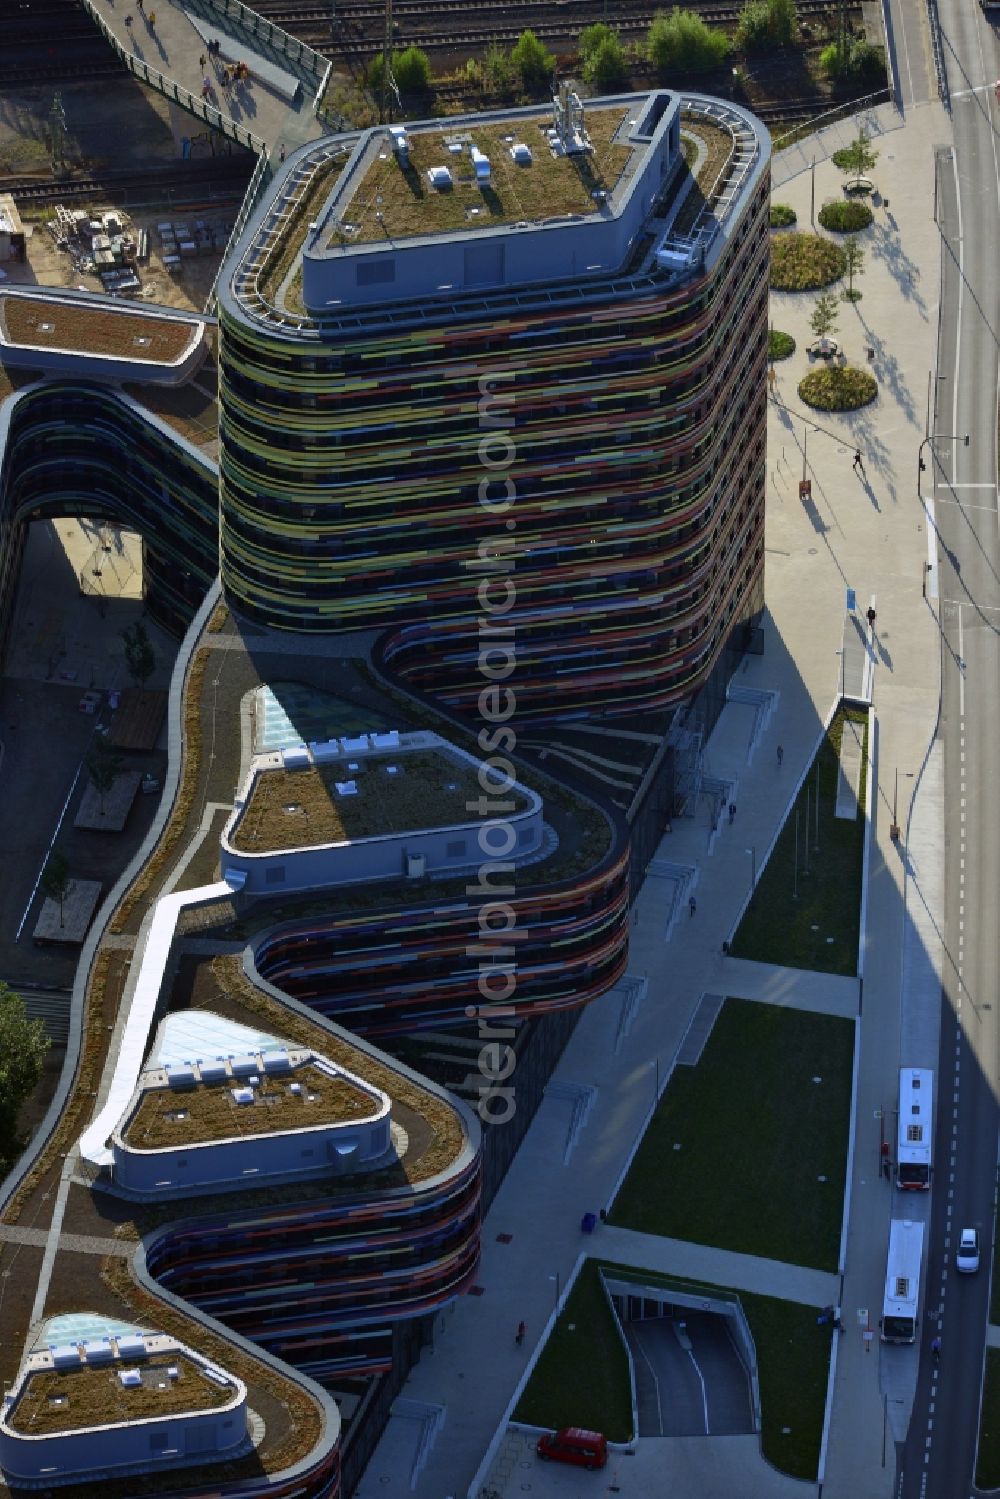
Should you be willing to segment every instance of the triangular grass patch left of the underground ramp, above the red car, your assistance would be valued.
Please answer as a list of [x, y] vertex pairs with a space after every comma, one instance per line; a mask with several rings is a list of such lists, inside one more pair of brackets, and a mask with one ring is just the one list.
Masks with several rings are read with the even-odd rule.
[[555, 1430], [583, 1426], [609, 1442], [631, 1442], [628, 1358], [595, 1259], [580, 1270], [514, 1420]]

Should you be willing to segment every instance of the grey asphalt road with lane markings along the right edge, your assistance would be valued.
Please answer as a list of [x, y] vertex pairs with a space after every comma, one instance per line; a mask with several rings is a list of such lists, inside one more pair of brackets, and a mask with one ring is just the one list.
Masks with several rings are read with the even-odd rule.
[[[942, 319], [924, 493], [934, 495], [945, 742], [945, 983], [921, 1375], [898, 1453], [901, 1499], [973, 1490], [997, 1166], [1000, 546], [997, 538], [997, 42], [972, 0], [939, 0], [954, 151], [937, 153]], [[984, 87], [984, 84], [987, 87]], [[969, 447], [961, 438], [969, 433]], [[958, 439], [958, 441], [957, 441]], [[916, 454], [915, 454], [916, 459]], [[933, 577], [933, 574], [931, 574]], [[985, 1240], [954, 1268], [958, 1231]], [[930, 1342], [942, 1337], [942, 1369]]]

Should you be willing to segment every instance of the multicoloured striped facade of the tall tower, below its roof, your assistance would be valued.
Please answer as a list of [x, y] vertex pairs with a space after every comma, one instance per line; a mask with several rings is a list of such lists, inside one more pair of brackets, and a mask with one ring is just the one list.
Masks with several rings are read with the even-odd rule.
[[[739, 153], [748, 117], [733, 114]], [[366, 298], [361, 318], [282, 331], [238, 295], [237, 264], [220, 294], [234, 607], [283, 630], [388, 628], [387, 666], [468, 709], [477, 583], [502, 571], [519, 717], [691, 697], [763, 607], [768, 171], [753, 132], [739, 198], [682, 276], [639, 243], [634, 271]], [[661, 211], [648, 226], [663, 232]]]

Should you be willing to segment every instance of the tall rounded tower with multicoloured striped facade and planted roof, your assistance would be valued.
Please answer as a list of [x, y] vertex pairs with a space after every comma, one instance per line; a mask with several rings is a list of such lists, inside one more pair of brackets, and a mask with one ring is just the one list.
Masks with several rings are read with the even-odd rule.
[[763, 607], [768, 162], [664, 90], [289, 157], [219, 288], [234, 609], [463, 711], [487, 646], [522, 720], [703, 688]]

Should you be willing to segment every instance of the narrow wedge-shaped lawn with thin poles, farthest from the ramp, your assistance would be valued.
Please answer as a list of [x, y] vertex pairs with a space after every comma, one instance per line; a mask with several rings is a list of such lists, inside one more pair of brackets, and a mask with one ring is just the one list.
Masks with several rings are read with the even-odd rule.
[[[856, 723], [867, 721], [861, 709], [843, 709], [835, 715], [730, 943], [730, 952], [736, 958], [780, 962], [790, 968], [817, 968], [820, 973], [843, 973], [852, 977], [858, 973], [868, 730], [865, 729], [862, 742], [858, 791], [861, 811], [853, 821], [846, 821], [834, 815], [844, 717]], [[816, 848], [817, 764], [819, 851]], [[807, 796], [808, 874], [805, 872]], [[799, 812], [798, 899], [793, 878], [796, 811]]]

